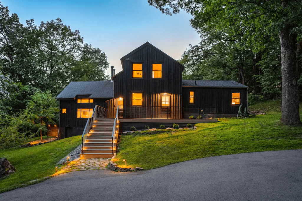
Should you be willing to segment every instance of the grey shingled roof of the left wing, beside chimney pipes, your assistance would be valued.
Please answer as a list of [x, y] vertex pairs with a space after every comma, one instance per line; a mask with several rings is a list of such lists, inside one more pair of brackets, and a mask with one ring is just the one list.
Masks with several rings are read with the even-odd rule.
[[90, 95], [89, 98], [113, 98], [113, 82], [111, 80], [70, 82], [56, 98], [74, 99], [77, 95]]

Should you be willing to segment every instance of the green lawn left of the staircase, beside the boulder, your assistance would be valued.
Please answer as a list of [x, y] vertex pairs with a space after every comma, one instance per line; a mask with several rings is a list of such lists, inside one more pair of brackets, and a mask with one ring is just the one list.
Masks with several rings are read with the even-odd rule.
[[0, 158], [6, 157], [16, 168], [14, 174], [0, 180], [0, 193], [26, 186], [29, 181], [54, 174], [55, 164], [81, 142], [81, 136], [75, 136], [39, 146], [0, 150]]

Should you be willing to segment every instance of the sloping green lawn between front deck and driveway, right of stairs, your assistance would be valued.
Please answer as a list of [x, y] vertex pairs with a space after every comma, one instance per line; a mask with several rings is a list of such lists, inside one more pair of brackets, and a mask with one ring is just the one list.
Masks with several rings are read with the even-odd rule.
[[[300, 105], [300, 119], [302, 119]], [[268, 110], [252, 118], [221, 118], [218, 123], [196, 124], [196, 130], [122, 135], [116, 163], [144, 169], [209, 156], [246, 152], [302, 149], [302, 126], [280, 124], [281, 101], [252, 105]]]

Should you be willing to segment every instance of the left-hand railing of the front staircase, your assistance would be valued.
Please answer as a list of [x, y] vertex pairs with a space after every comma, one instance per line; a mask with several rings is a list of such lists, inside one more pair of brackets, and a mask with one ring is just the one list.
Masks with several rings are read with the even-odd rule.
[[93, 122], [95, 121], [95, 118], [107, 118], [107, 109], [102, 108], [101, 106], [95, 105], [95, 108], [93, 109], [92, 116], [87, 119], [85, 128], [83, 130], [82, 134], [82, 153], [83, 153], [83, 139], [84, 137], [92, 130]]

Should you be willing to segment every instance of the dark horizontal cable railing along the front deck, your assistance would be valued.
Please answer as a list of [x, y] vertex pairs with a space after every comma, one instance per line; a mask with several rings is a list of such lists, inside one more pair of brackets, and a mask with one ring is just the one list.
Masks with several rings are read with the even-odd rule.
[[119, 118], [188, 119], [191, 116], [215, 118], [215, 107], [123, 106], [118, 111]]

